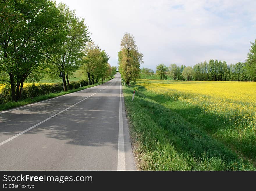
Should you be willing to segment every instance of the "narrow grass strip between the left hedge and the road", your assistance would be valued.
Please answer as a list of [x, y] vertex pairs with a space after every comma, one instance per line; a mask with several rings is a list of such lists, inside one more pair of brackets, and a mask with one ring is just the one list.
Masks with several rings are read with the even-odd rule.
[[[106, 81], [109, 81], [109, 80], [106, 80]], [[68, 90], [66, 92], [62, 91], [62, 92], [59, 92], [59, 93], [50, 93], [50, 94], [47, 94], [47, 95], [41, 95], [41, 96], [34, 97], [34, 98], [24, 99], [22, 101], [17, 101], [17, 102], [14, 101], [14, 102], [8, 102], [8, 103], [0, 104], [0, 111], [16, 108], [16, 107], [27, 105], [27, 104], [30, 104], [30, 103], [34, 103], [34, 102], [37, 102], [37, 101], [50, 99], [50, 98], [61, 96], [61, 95], [64, 95], [64, 94], [69, 94], [69, 93], [72, 93], [72, 92], [77, 92], [77, 91], [80, 91], [80, 90], [84, 90], [84, 89], [87, 89], [87, 88], [105, 83], [106, 81], [95, 83], [94, 85], [90, 85], [90, 86], [83, 86], [83, 87], [80, 87], [80, 88], [77, 88], [77, 89]]]

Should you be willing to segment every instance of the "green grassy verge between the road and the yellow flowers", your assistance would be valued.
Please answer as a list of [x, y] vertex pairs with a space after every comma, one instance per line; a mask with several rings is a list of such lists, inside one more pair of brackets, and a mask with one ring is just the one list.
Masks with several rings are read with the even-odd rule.
[[134, 101], [134, 87], [123, 86], [123, 92], [139, 170], [256, 170], [193, 120], [161, 104], [166, 97], [136, 87]]

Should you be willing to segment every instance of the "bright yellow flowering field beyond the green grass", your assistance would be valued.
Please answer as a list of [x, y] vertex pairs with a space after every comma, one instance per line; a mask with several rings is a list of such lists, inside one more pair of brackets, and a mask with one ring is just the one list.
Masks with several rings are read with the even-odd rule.
[[255, 82], [140, 80], [138, 84], [175, 101], [198, 106], [208, 115], [219, 116], [236, 130], [238, 137], [249, 133], [256, 139]]

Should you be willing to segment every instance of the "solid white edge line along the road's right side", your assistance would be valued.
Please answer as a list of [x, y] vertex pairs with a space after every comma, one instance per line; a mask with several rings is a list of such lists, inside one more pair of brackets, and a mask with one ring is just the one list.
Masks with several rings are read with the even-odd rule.
[[117, 170], [125, 170], [125, 143], [124, 143], [124, 128], [122, 115], [122, 85], [120, 86], [119, 96], [119, 129], [118, 129], [118, 159]]

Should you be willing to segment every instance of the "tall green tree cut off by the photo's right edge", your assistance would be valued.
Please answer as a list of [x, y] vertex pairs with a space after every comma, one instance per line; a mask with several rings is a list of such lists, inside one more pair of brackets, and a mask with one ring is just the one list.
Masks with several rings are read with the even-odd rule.
[[253, 81], [256, 79], [256, 39], [255, 42], [251, 42], [250, 52], [247, 53], [246, 59], [246, 73]]

